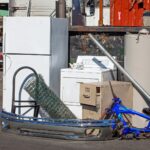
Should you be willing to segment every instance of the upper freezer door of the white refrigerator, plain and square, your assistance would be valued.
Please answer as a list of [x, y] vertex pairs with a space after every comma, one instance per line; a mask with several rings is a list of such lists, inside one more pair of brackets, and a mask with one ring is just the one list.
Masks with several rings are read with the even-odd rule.
[[4, 53], [50, 55], [50, 17], [5, 17]]

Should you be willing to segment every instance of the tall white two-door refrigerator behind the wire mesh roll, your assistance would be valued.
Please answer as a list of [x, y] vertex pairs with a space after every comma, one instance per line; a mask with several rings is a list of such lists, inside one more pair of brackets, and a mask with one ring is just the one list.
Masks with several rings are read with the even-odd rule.
[[[3, 109], [11, 111], [13, 75], [22, 66], [35, 69], [59, 96], [60, 69], [68, 66], [67, 19], [6, 17], [3, 27]], [[27, 69], [18, 73], [16, 100], [22, 82], [30, 73]], [[22, 91], [21, 99], [30, 99], [25, 90]]]

